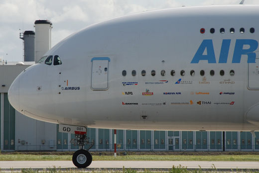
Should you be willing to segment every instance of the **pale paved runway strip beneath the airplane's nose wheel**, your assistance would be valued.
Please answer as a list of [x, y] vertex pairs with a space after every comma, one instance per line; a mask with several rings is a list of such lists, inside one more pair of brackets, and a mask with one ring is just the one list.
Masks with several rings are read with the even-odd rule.
[[[187, 167], [187, 169], [250, 169], [259, 170], [259, 162], [207, 162], [207, 161], [93, 161], [87, 168], [95, 169], [171, 169], [173, 166]], [[1, 170], [47, 169], [47, 168], [76, 168], [72, 161], [0, 161]]]

